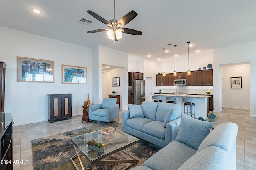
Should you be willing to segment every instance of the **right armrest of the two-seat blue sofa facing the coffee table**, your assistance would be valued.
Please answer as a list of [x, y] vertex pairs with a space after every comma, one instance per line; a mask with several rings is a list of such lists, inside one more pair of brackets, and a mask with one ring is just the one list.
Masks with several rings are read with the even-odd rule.
[[165, 142], [166, 144], [170, 143], [173, 139], [173, 131], [174, 127], [180, 126], [180, 120], [181, 117], [178, 117], [177, 119], [174, 119], [167, 123], [166, 128], [165, 128]]

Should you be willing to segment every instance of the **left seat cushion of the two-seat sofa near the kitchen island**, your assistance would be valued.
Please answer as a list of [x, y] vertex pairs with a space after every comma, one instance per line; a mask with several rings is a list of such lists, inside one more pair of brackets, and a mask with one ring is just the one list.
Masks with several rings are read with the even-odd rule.
[[144, 117], [134, 117], [134, 118], [128, 119], [125, 122], [125, 125], [137, 131], [141, 131], [142, 127], [151, 121], [152, 121], [151, 119], [144, 118]]

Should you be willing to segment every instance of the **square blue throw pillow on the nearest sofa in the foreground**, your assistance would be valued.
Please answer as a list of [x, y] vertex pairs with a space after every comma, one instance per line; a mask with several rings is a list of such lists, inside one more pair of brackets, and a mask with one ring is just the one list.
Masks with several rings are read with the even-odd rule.
[[197, 150], [204, 138], [210, 133], [213, 124], [213, 122], [181, 115], [180, 130], [175, 140]]

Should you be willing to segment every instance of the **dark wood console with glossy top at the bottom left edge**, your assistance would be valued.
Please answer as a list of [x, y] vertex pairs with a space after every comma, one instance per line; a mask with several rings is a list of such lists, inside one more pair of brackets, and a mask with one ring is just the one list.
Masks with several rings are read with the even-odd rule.
[[1, 139], [1, 170], [12, 170], [12, 112], [1, 112], [0, 139]]

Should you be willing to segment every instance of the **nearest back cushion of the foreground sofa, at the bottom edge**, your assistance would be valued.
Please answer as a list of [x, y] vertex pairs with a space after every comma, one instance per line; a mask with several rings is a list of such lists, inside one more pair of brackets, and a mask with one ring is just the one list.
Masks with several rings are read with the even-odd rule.
[[229, 169], [228, 153], [218, 147], [207, 147], [189, 158], [178, 170], [223, 170]]

